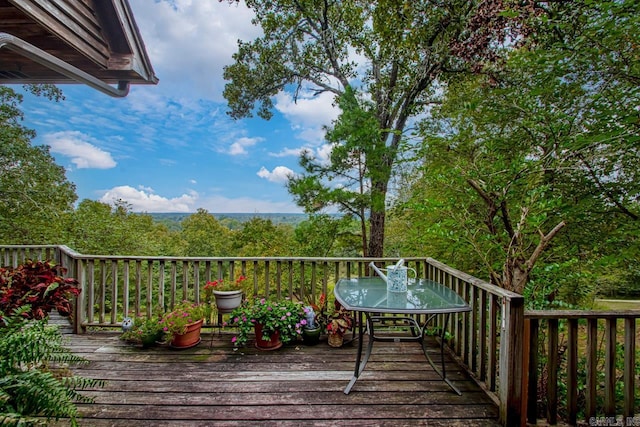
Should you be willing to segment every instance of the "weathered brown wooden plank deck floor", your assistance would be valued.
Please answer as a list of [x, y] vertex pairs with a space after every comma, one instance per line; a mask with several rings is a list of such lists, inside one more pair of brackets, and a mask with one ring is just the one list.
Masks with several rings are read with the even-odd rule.
[[[452, 360], [453, 393], [417, 343], [375, 343], [351, 394], [357, 346], [326, 341], [273, 352], [234, 350], [231, 335], [203, 334], [192, 349], [142, 349], [113, 332], [69, 335], [91, 363], [74, 373], [107, 381], [83, 393], [81, 426], [431, 425], [495, 426], [498, 408]], [[366, 339], [366, 338], [365, 338]], [[434, 344], [434, 359], [439, 352]]]

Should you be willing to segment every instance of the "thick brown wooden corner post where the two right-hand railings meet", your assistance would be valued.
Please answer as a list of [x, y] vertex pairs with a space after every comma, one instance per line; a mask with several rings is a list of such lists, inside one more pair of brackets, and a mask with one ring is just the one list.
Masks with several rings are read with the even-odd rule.
[[504, 426], [520, 425], [524, 351], [524, 298], [504, 296], [500, 332], [500, 421]]

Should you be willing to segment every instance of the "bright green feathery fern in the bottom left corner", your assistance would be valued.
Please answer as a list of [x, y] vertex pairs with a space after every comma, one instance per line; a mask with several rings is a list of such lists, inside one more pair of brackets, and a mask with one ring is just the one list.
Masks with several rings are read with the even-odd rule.
[[46, 320], [27, 320], [19, 310], [0, 325], [0, 425], [31, 426], [68, 418], [77, 425], [76, 402], [92, 402], [77, 390], [103, 381], [70, 374], [71, 365], [86, 364], [64, 346], [65, 340]]

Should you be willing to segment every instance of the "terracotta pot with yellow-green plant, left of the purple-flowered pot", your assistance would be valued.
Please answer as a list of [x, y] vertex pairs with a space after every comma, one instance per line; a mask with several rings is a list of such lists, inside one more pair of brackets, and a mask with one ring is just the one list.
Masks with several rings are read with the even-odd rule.
[[206, 307], [183, 301], [162, 316], [162, 330], [171, 336], [174, 348], [190, 348], [200, 343], [200, 331], [206, 314]]

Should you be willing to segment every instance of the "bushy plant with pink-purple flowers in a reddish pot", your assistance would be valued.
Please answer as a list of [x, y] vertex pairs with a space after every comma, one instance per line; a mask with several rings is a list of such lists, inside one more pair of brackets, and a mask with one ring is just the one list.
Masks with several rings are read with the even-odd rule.
[[266, 298], [243, 302], [231, 312], [231, 321], [225, 323], [238, 328], [238, 334], [231, 340], [234, 345], [246, 345], [250, 334], [254, 333], [256, 347], [261, 350], [275, 350], [296, 340], [305, 324], [301, 303]]

